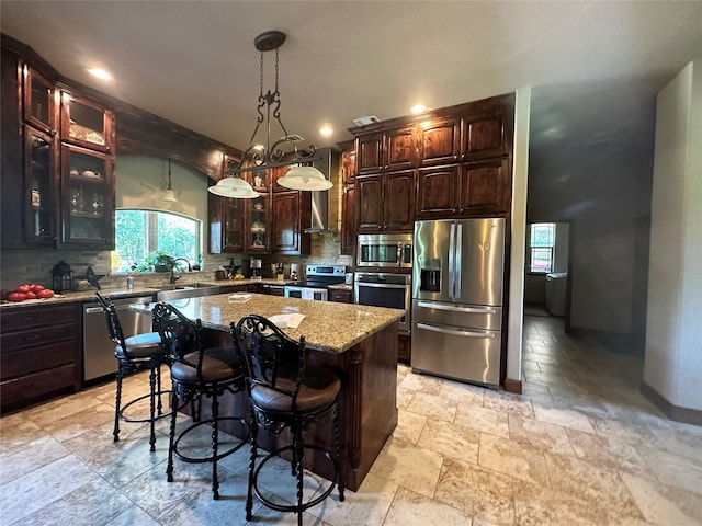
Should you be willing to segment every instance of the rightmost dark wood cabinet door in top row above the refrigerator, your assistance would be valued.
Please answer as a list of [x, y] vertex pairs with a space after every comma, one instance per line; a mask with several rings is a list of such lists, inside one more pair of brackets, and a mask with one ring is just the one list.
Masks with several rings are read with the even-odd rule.
[[511, 145], [505, 129], [506, 111], [495, 107], [463, 117], [462, 160], [477, 160], [509, 153]]

